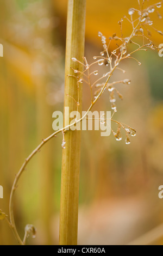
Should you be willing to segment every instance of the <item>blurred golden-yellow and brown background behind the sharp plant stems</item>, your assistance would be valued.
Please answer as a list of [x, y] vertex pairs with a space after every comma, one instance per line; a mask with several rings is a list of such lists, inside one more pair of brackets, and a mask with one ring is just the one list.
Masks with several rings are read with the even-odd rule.
[[[156, 3], [155, 1], [150, 1]], [[4, 199], [0, 209], [9, 214], [9, 195], [15, 174], [24, 159], [52, 130], [52, 113], [63, 111], [67, 0], [0, 0], [0, 185]], [[102, 51], [98, 31], [106, 38], [117, 32], [118, 21], [137, 7], [130, 0], [87, 0], [85, 56]], [[158, 9], [163, 15], [163, 8]], [[163, 21], [152, 14], [154, 27]], [[124, 33], [131, 32], [124, 23]], [[163, 36], [151, 29], [154, 44]], [[113, 47], [113, 46], [112, 46]], [[113, 50], [113, 48], [111, 48]], [[75, 56], [74, 56], [75, 57]], [[163, 244], [163, 58], [156, 51], [137, 52], [123, 63], [131, 85], [118, 87], [124, 100], [117, 101], [115, 119], [134, 127], [131, 144], [116, 142], [100, 131], [82, 132], [79, 192], [79, 245], [126, 245], [149, 230], [152, 245]], [[90, 105], [83, 88], [83, 110]], [[110, 110], [103, 95], [94, 110]], [[61, 181], [61, 140], [48, 142], [29, 163], [15, 194], [15, 221], [23, 237], [26, 224], [37, 228], [30, 245], [57, 245]], [[140, 238], [141, 242], [143, 237]], [[0, 222], [0, 245], [16, 245], [7, 223]]]

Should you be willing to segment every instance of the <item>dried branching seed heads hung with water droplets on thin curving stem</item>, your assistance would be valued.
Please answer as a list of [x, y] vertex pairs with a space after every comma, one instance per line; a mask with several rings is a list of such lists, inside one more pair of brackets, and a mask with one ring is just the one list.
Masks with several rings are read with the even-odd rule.
[[[112, 63], [115, 64], [115, 68], [118, 66], [119, 64], [119, 59], [120, 59], [120, 56], [121, 58], [130, 58], [131, 54], [127, 54], [127, 46], [129, 43], [134, 43], [136, 44], [136, 42], [133, 41], [133, 38], [134, 36], [137, 36], [137, 35], [140, 35], [139, 33], [141, 33], [141, 35], [145, 36], [144, 35], [144, 29], [142, 27], [145, 27], [145, 25], [149, 25], [149, 26], [152, 26], [153, 25], [153, 21], [151, 21], [149, 15], [151, 13], [154, 13], [155, 9], [156, 8], [160, 8], [161, 7], [161, 2], [158, 3], [158, 4], [155, 4], [151, 7], [148, 7], [147, 9], [145, 10], [136, 10], [134, 8], [130, 8], [129, 11], [128, 11], [128, 14], [130, 16], [134, 15], [134, 13], [137, 13], [139, 15], [139, 20], [142, 24], [141, 26], [141, 23], [140, 23], [140, 27], [135, 29], [134, 33], [133, 33], [133, 37], [126, 37], [126, 38], [123, 38], [123, 34], [121, 36], [121, 38], [119, 38], [116, 33], [113, 34], [109, 40], [121, 40], [121, 45], [119, 46], [118, 44], [118, 48], [116, 48], [114, 51], [111, 52], [111, 55], [108, 53], [108, 47], [106, 45], [106, 38], [105, 36], [101, 33], [101, 32], [98, 32], [98, 36], [101, 38], [101, 41], [102, 41], [102, 45], [103, 45], [103, 51], [100, 53], [100, 56], [95, 56], [93, 57], [93, 59], [95, 60], [95, 63], [93, 64], [98, 64], [99, 66], [102, 66], [102, 65], [110, 65], [110, 71], [109, 72], [106, 72], [106, 74], [103, 74], [101, 76], [101, 78], [99, 78], [97, 81], [99, 81], [100, 79], [104, 78], [104, 77], [109, 77], [112, 75], [111, 73], [111, 69], [112, 69]], [[125, 18], [126, 16], [124, 16]], [[160, 16], [159, 16], [160, 17]], [[131, 22], [133, 21], [133, 18], [131, 18]], [[121, 21], [118, 22], [118, 24], [121, 26], [121, 33], [122, 33], [122, 22], [123, 22], [123, 19], [121, 19]], [[134, 24], [134, 23], [133, 23]], [[146, 28], [146, 27], [145, 27]], [[148, 29], [146, 29], [148, 31]], [[148, 31], [148, 34], [150, 32]], [[163, 35], [163, 33], [161, 31], [158, 31], [159, 34]], [[146, 37], [145, 37], [146, 38]], [[147, 38], [146, 38], [147, 39]], [[150, 41], [148, 39], [148, 44], [146, 45], [143, 45], [144, 47], [149, 47], [151, 48], [152, 50], [156, 50], [156, 46], [154, 46], [154, 44], [152, 43], [152, 41]], [[138, 44], [137, 44], [138, 45]], [[142, 48], [140, 46], [140, 48]], [[138, 49], [139, 50], [139, 49]], [[147, 49], [142, 49], [142, 50], [145, 50], [147, 51]], [[105, 56], [105, 57], [104, 57]], [[132, 59], [135, 59], [133, 57], [131, 57]], [[135, 59], [137, 61], [137, 63], [139, 65], [141, 65], [141, 63]], [[72, 61], [73, 62], [79, 62], [76, 58], [72, 58]], [[87, 63], [87, 62], [86, 62]], [[90, 65], [86, 64], [85, 65], [85, 70], [89, 69], [90, 68]], [[117, 69], [120, 69], [120, 68], [117, 68]], [[121, 71], [123, 71], [123, 74], [124, 74], [124, 70], [120, 69]], [[74, 70], [74, 73], [77, 74], [78, 73], [78, 70]], [[98, 70], [95, 70], [91, 73], [91, 75], [94, 74], [95, 76], [98, 75]], [[79, 74], [79, 77], [80, 77], [80, 74]], [[89, 77], [90, 78], [90, 77]], [[85, 80], [84, 80], [85, 81]], [[82, 83], [83, 80], [80, 78], [77, 83]], [[111, 109], [115, 112], [117, 112], [117, 107], [116, 107], [116, 96], [119, 97], [119, 99], [123, 100], [123, 96], [120, 94], [120, 92], [118, 92], [118, 90], [114, 87], [114, 84], [116, 83], [123, 83], [123, 84], [127, 84], [129, 85], [131, 83], [131, 81], [129, 79], [124, 79], [122, 81], [118, 81], [118, 82], [113, 82], [113, 83], [108, 83], [108, 84], [105, 84], [104, 82], [103, 83], [93, 83], [93, 85], [95, 85], [96, 88], [98, 88], [95, 92], [95, 99], [98, 98], [104, 88], [104, 90], [108, 90], [109, 92], [109, 101], [111, 103]], [[92, 86], [93, 86], [92, 85]], [[101, 123], [105, 123], [105, 119], [104, 117], [101, 118]], [[113, 120], [114, 121], [114, 120]], [[118, 122], [116, 122], [118, 123]], [[136, 131], [133, 129], [133, 128], [130, 128], [129, 126], [127, 125], [123, 125], [121, 123], [118, 123], [118, 129], [117, 129], [117, 132], [113, 132], [115, 138], [117, 141], [121, 141], [122, 140], [122, 135], [121, 135], [121, 129], [123, 128], [125, 131], [126, 131], [126, 139], [125, 139], [125, 142], [126, 144], [130, 144], [130, 137], [129, 136], [136, 136]], [[65, 148], [65, 141], [63, 140], [62, 141], [62, 148]]]

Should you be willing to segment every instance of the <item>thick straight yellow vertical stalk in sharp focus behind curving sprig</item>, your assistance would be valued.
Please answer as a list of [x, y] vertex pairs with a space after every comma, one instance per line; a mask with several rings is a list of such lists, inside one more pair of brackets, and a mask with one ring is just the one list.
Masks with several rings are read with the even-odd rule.
[[[82, 86], [77, 87], [73, 69], [83, 71], [78, 62], [72, 62], [76, 57], [83, 62], [85, 42], [85, 11], [86, 0], [69, 0], [67, 15], [66, 65], [65, 65], [65, 103], [71, 111], [77, 111], [76, 102], [80, 102], [78, 111], [82, 112]], [[81, 83], [80, 83], [81, 84]], [[66, 96], [66, 95], [70, 95]], [[72, 99], [75, 99], [75, 101]], [[65, 123], [68, 122], [65, 114]], [[66, 148], [62, 151], [61, 203], [60, 203], [60, 245], [77, 245], [78, 234], [78, 198], [80, 169], [80, 131], [65, 133]]]

